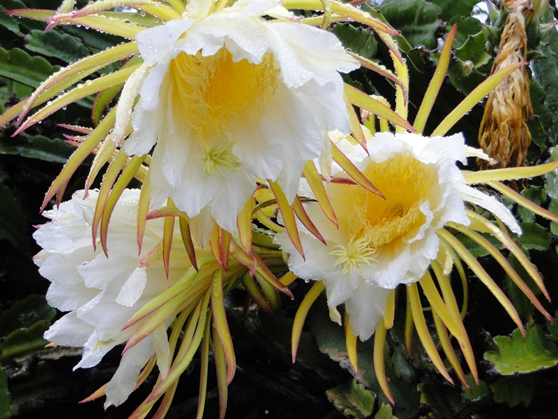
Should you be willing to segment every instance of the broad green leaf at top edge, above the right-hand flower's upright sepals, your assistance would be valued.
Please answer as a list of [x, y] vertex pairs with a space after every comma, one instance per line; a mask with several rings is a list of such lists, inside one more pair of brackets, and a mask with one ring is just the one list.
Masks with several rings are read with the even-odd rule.
[[382, 3], [380, 12], [412, 47], [423, 45], [431, 50], [437, 47], [441, 7], [423, 0], [388, 0]]

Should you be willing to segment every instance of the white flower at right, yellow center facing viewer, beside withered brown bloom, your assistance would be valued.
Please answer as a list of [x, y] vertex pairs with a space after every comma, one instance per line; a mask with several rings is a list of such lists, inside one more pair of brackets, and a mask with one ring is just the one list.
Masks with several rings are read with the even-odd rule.
[[[329, 183], [326, 191], [338, 229], [317, 203], [306, 204], [326, 246], [302, 228], [305, 260], [286, 233], [276, 240], [290, 253], [294, 274], [324, 281], [330, 307], [345, 302], [352, 329], [363, 340], [382, 318], [389, 291], [421, 279], [437, 258], [437, 230], [450, 221], [469, 225], [464, 201], [487, 208], [513, 231], [520, 231], [502, 203], [465, 184], [455, 166], [456, 161], [465, 163], [462, 135], [377, 133], [368, 141], [370, 156], [347, 140], [338, 146], [385, 199], [361, 186]], [[331, 175], [347, 177], [338, 166]]]

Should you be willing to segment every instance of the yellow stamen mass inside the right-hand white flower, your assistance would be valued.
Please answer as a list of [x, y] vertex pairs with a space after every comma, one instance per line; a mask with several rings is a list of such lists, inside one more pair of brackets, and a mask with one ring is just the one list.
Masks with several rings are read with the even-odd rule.
[[382, 163], [372, 162], [363, 173], [382, 191], [385, 200], [363, 188], [345, 188], [352, 203], [349, 232], [377, 249], [425, 222], [420, 205], [438, 184], [437, 171], [408, 154]]

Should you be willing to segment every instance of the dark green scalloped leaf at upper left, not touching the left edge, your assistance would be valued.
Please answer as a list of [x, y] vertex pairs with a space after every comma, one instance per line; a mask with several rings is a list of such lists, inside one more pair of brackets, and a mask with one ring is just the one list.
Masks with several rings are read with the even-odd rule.
[[26, 36], [28, 50], [43, 54], [46, 57], [56, 57], [67, 63], [72, 63], [89, 54], [89, 50], [78, 38], [59, 31], [38, 31], [34, 29]]

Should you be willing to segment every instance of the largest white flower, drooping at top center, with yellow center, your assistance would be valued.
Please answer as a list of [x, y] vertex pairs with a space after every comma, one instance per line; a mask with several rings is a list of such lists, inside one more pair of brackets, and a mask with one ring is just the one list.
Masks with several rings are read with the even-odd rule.
[[349, 131], [338, 71], [359, 64], [278, 0], [239, 0], [209, 15], [211, 1], [188, 3], [183, 20], [137, 36], [144, 64], [123, 89], [114, 138], [131, 122], [123, 149], [155, 146], [153, 206], [172, 197], [188, 216], [211, 214], [234, 232], [257, 179], [278, 181], [292, 200], [326, 131]]

